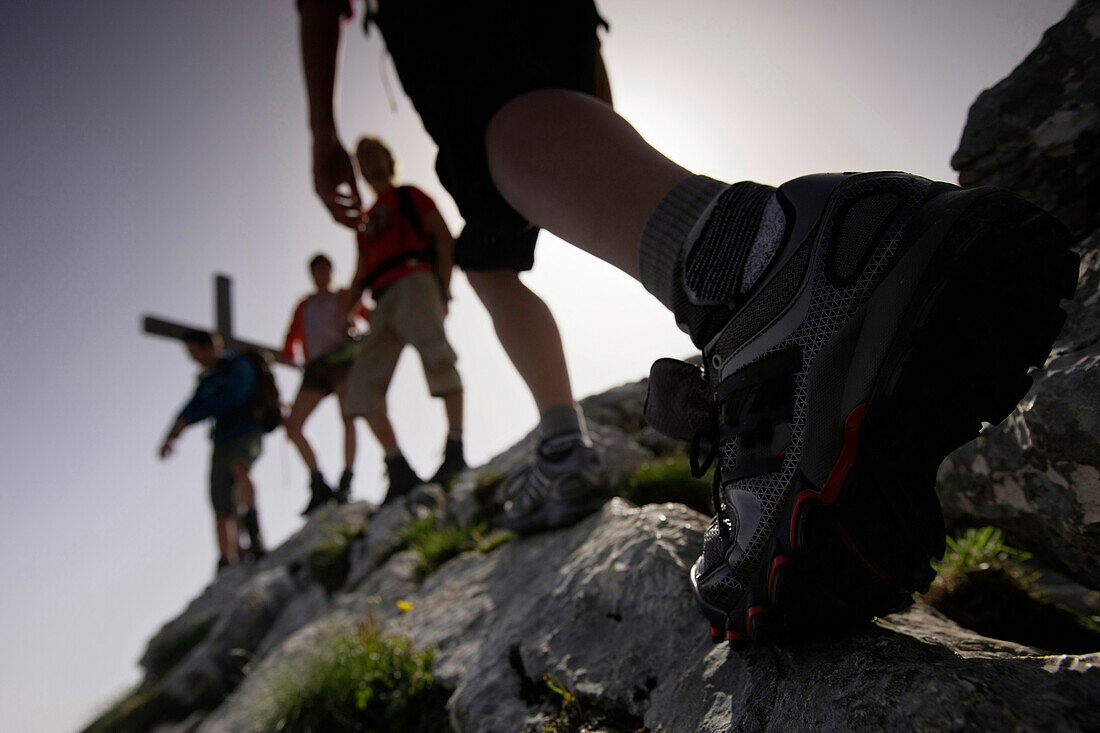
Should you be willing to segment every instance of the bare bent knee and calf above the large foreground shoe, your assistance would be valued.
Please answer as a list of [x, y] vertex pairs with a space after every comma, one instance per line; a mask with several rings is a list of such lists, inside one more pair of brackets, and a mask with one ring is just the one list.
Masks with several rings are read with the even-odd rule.
[[517, 211], [635, 278], [646, 220], [691, 175], [609, 105], [563, 89], [505, 105], [485, 144], [493, 182]]

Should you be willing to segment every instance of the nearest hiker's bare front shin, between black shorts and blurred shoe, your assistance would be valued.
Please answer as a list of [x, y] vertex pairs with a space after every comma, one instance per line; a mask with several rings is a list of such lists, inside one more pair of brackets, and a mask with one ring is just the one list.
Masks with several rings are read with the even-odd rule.
[[527, 383], [539, 413], [572, 405], [573, 390], [561, 335], [542, 298], [512, 270], [471, 271], [466, 280], [485, 304], [501, 346]]

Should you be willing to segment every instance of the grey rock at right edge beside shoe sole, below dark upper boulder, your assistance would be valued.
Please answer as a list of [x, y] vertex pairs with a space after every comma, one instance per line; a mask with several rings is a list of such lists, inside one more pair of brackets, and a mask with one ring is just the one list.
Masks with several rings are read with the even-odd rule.
[[1085, 243], [1053, 355], [1000, 425], [952, 453], [937, 489], [948, 524], [992, 524], [1100, 588], [1100, 253]]

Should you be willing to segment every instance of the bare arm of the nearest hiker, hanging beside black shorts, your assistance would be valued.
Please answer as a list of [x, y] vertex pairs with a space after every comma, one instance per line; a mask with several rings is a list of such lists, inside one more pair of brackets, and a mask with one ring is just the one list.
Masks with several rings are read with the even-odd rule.
[[309, 101], [309, 129], [314, 138], [314, 189], [333, 219], [355, 229], [362, 201], [355, 185], [355, 171], [340, 142], [332, 111], [340, 23], [346, 10], [346, 0], [298, 2], [301, 67]]

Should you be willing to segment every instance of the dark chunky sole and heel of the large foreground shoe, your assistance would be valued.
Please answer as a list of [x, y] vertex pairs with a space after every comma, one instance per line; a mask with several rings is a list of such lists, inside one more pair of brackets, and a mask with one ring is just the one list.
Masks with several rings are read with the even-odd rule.
[[[927, 590], [931, 561], [944, 551], [939, 463], [982, 423], [1011, 414], [1062, 329], [1059, 303], [1074, 295], [1078, 258], [1049, 215], [1007, 192], [952, 192], [926, 204], [910, 231], [919, 241], [857, 314], [864, 330], [882, 324], [893, 333], [884, 357], [870, 360], [873, 373], [862, 368], [871, 383], [864, 398], [836, 416], [843, 439], [833, 440], [840, 448], [828, 478], [818, 486], [795, 473], [734, 609], [708, 604], [692, 568], [715, 642], [865, 623]], [[912, 295], [891, 309], [904, 292]], [[873, 349], [864, 346], [853, 360], [868, 360]]]

